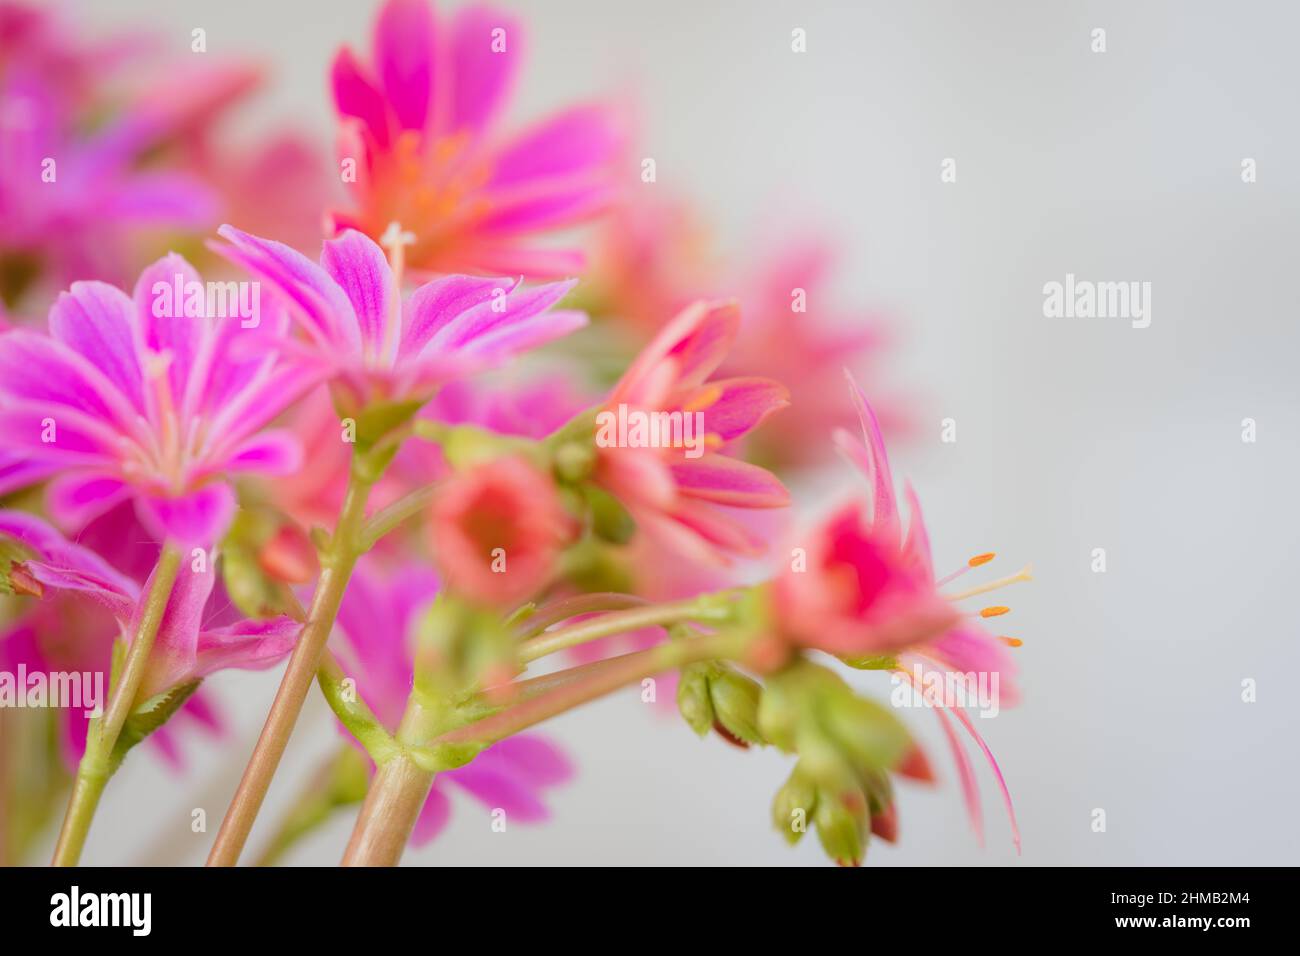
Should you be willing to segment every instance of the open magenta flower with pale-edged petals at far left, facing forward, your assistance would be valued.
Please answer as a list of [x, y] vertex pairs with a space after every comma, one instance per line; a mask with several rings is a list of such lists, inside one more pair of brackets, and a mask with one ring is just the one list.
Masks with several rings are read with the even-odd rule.
[[134, 299], [74, 282], [48, 336], [0, 334], [0, 437], [18, 459], [0, 462], [0, 493], [57, 475], [48, 501], [68, 527], [131, 498], [151, 535], [207, 546], [233, 516], [233, 475], [298, 467], [291, 436], [259, 429], [302, 393], [303, 373], [237, 349], [240, 320], [173, 302], [178, 285], [202, 287], [170, 255], [140, 274]]

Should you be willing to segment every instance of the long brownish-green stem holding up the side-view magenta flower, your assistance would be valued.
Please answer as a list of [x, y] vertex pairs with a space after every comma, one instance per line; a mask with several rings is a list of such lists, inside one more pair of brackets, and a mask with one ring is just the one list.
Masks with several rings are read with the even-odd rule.
[[239, 861], [239, 853], [248, 840], [248, 834], [252, 832], [257, 810], [261, 809], [270, 780], [289, 745], [303, 702], [316, 680], [325, 643], [334, 630], [334, 619], [343, 602], [352, 568], [365, 551], [363, 536], [365, 502], [370, 494], [373, 476], [364, 467], [358, 467], [359, 464], [360, 462], [354, 458], [347, 496], [328, 553], [321, 561], [321, 576], [316, 583], [307, 623], [294, 645], [276, 700], [263, 724], [261, 736], [257, 737], [257, 745], [248, 758], [248, 766], [230, 800], [225, 819], [221, 821], [221, 830], [217, 831], [217, 839], [208, 855], [208, 866], [234, 866]]

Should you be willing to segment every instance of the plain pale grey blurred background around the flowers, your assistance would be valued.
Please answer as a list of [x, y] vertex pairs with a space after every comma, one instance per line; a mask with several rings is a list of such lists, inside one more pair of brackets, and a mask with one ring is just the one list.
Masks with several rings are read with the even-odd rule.
[[[868, 393], [880, 381], [913, 403], [893, 459], [926, 505], [940, 572], [985, 550], [1004, 571], [1034, 563], [1002, 619], [1024, 640], [1023, 704], [978, 721], [1014, 795], [1023, 855], [976, 760], [988, 825], [978, 845], [937, 722], [915, 711], [940, 784], [901, 787], [901, 840], [875, 842], [868, 865], [1300, 862], [1300, 718], [1287, 700], [1300, 669], [1300, 9], [504, 5], [529, 26], [515, 118], [628, 94], [637, 151], [658, 166], [645, 189], [698, 204], [732, 261], [805, 225], [835, 237], [836, 298], [893, 323], [897, 346]], [[203, 27], [211, 53], [264, 59], [270, 83], [250, 125], [291, 117], [329, 151], [329, 62], [342, 42], [367, 46], [374, 7], [74, 9], [92, 31], [139, 26], [185, 49]], [[790, 49], [796, 27], [805, 53]], [[1091, 49], [1097, 27], [1105, 53]], [[940, 179], [946, 157], [956, 182]], [[1242, 179], [1245, 157], [1257, 182]], [[1045, 319], [1043, 286], [1066, 273], [1150, 282], [1150, 326]], [[732, 291], [744, 306], [746, 289]], [[1257, 421], [1254, 444], [1242, 441], [1244, 418]], [[953, 444], [942, 419], [957, 423]], [[835, 484], [852, 480], [844, 468]], [[1104, 574], [1091, 570], [1096, 548]], [[235, 732], [192, 741], [179, 777], [134, 757], [84, 861], [202, 861], [278, 678], [209, 682]], [[1244, 679], [1257, 682], [1253, 704]], [[861, 683], [889, 689], [879, 675]], [[824, 862], [815, 840], [790, 849], [771, 830], [789, 769], [775, 752], [697, 740], [636, 691], [549, 731], [580, 769], [552, 795], [551, 825], [493, 832], [480, 806], [454, 797], [451, 827], [406, 862]], [[254, 849], [334, 745], [313, 698]], [[194, 808], [208, 832], [191, 832]], [[1105, 832], [1091, 827], [1097, 808]], [[335, 817], [287, 862], [334, 864], [351, 825]]]

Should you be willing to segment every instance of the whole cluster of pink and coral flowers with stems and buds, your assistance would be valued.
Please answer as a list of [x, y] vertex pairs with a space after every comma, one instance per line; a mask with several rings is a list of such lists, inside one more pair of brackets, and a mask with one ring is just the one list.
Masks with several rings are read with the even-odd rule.
[[[456, 792], [541, 822], [575, 766], [534, 728], [647, 678], [701, 736], [790, 754], [776, 829], [857, 865], [898, 838], [894, 780], [936, 779], [864, 692], [888, 675], [935, 709], [982, 827], [958, 730], [992, 754], [945, 680], [1015, 702], [1018, 641], [979, 623], [1008, 609], [961, 601], [1027, 572], [936, 579], [841, 385], [885, 339], [826, 306], [826, 241], [715, 268], [693, 212], [633, 199], [611, 101], [503, 133], [525, 30], [490, 8], [386, 0], [370, 52], [341, 48], [337, 194], [311, 146], [214, 159], [255, 85], [237, 64], [179, 104], [136, 87], [88, 135], [136, 40], [69, 35], [0, 3], [0, 704], [69, 675], [101, 692], [49, 700], [56, 735], [0, 708], [62, 757], [0, 774], [5, 806], [44, 801], [14, 845], [66, 787], [55, 862], [75, 864], [135, 744], [181, 766], [182, 719], [228, 732], [222, 672], [281, 666], [211, 864], [240, 858], [316, 688], [343, 743], [268, 862], [342, 808], [358, 865], [430, 840]], [[151, 254], [146, 220], [188, 260]], [[801, 528], [786, 481], [835, 449], [861, 480]]]

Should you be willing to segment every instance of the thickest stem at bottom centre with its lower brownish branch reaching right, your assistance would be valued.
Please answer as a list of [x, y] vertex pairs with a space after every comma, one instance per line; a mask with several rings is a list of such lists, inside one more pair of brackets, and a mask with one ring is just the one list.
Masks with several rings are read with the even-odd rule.
[[[399, 743], [426, 745], [445, 743], [493, 744], [551, 717], [572, 710], [620, 687], [644, 680], [666, 670], [696, 661], [736, 657], [746, 641], [733, 633], [715, 633], [692, 640], [660, 644], [649, 650], [597, 665], [575, 669], [582, 676], [559, 682], [549, 689], [529, 696], [515, 706], [491, 717], [438, 736], [420, 740], [416, 732], [421, 721], [412, 718], [408, 708], [403, 718]], [[551, 676], [551, 675], [549, 675]], [[412, 698], [413, 701], [413, 698]], [[344, 866], [395, 866], [402, 860], [411, 830], [424, 808], [433, 786], [433, 773], [421, 770], [404, 753], [384, 763], [370, 782], [361, 813], [356, 818], [352, 839], [343, 856]]]

